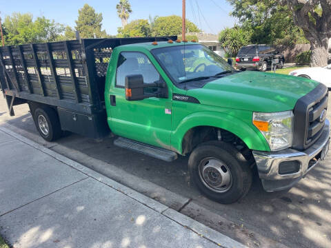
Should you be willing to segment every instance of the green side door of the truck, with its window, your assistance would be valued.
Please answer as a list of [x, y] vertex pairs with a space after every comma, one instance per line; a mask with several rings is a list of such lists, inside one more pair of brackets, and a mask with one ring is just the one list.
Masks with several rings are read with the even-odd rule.
[[125, 80], [130, 74], [141, 74], [144, 83], [163, 81], [146, 54], [121, 52], [116, 81], [112, 83], [109, 92], [110, 129], [119, 136], [170, 149], [171, 98], [151, 97], [141, 101], [127, 101]]

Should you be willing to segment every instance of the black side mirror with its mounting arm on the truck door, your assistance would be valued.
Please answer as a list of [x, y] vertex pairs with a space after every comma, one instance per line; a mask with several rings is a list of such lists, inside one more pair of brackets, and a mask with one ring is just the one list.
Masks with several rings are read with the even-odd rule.
[[[154, 93], [146, 93], [145, 88], [154, 87]], [[139, 101], [149, 97], [168, 98], [168, 87], [165, 83], [143, 83], [143, 75], [134, 74], [126, 76], [126, 100]]]

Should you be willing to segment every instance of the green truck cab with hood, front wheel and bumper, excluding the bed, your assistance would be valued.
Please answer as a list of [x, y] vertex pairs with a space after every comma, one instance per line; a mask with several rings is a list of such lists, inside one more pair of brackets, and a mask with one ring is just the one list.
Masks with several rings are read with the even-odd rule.
[[247, 193], [255, 165], [267, 191], [283, 190], [328, 151], [323, 85], [234, 70], [197, 43], [114, 48], [105, 99], [114, 134], [189, 154], [194, 183], [221, 203]]

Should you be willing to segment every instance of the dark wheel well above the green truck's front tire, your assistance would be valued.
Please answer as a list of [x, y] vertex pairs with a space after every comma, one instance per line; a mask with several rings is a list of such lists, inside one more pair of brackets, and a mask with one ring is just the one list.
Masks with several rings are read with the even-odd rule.
[[183, 155], [192, 152], [197, 145], [207, 141], [223, 141], [230, 143], [238, 149], [246, 159], [249, 159], [252, 155], [252, 151], [237, 135], [227, 130], [210, 126], [192, 127], [186, 132], [182, 142]]

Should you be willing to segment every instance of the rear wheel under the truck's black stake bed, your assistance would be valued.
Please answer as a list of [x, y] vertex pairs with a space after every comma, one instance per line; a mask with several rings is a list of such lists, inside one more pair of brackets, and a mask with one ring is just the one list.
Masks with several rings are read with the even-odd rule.
[[34, 123], [41, 137], [55, 141], [61, 137], [62, 130], [57, 112], [51, 107], [37, 107], [33, 114]]

